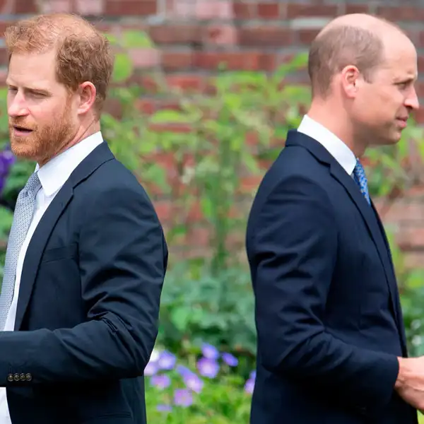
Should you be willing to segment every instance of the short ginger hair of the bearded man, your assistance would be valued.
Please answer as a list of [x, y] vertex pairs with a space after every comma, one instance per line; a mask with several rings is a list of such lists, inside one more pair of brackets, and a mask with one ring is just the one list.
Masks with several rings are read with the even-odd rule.
[[96, 89], [98, 119], [113, 69], [110, 43], [87, 20], [70, 13], [39, 15], [6, 28], [8, 61], [13, 53], [43, 53], [56, 49], [57, 81], [71, 92], [90, 81]]

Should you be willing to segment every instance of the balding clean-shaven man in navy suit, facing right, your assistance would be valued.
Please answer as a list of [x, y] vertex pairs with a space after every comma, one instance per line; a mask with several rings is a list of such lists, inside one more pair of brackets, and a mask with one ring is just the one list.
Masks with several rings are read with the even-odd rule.
[[250, 422], [416, 424], [424, 359], [405, 359], [389, 244], [360, 163], [367, 146], [397, 143], [418, 108], [416, 49], [391, 23], [342, 16], [312, 43], [309, 72], [310, 110], [249, 215]]

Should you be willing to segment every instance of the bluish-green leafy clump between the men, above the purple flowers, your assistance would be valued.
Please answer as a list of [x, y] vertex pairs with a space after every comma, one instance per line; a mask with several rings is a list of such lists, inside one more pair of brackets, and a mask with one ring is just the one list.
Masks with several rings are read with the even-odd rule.
[[187, 264], [167, 273], [158, 343], [185, 355], [201, 341], [235, 353], [247, 367], [253, 366], [256, 329], [249, 273], [235, 268], [216, 275], [207, 268], [187, 269]]

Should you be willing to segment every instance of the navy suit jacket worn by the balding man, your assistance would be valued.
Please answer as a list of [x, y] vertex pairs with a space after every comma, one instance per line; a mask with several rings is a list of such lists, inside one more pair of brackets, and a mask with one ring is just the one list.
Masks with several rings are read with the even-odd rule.
[[258, 334], [251, 424], [416, 424], [394, 392], [406, 339], [382, 223], [316, 140], [289, 131], [246, 241]]

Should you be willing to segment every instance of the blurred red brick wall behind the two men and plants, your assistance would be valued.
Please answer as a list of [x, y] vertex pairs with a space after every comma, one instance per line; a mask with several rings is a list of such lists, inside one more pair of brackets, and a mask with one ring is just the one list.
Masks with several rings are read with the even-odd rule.
[[[355, 12], [377, 13], [401, 23], [423, 54], [419, 69], [424, 68], [424, 1], [420, 0], [0, 0], [0, 31], [21, 16], [47, 11], [90, 16], [108, 30], [121, 26], [147, 30], [158, 50], [135, 52], [138, 66], [164, 69], [177, 86], [200, 86], [222, 61], [229, 69], [271, 71], [293, 52], [307, 49], [330, 18]], [[0, 40], [0, 65], [6, 59], [1, 47]], [[0, 70], [1, 78], [4, 66]], [[424, 98], [424, 80], [417, 87]], [[424, 123], [423, 111], [417, 119]], [[158, 209], [162, 217], [166, 208]], [[396, 231], [408, 252], [408, 264], [423, 266], [424, 190], [413, 189], [396, 201], [384, 213], [384, 222]]]

